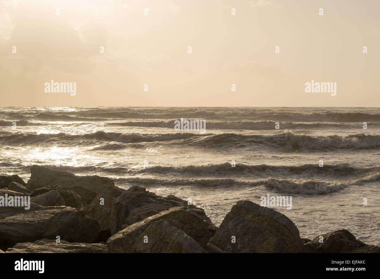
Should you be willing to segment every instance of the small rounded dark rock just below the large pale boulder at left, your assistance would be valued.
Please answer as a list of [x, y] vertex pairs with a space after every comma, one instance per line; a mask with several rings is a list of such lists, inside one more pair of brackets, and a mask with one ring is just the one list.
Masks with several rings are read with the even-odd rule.
[[[49, 192], [53, 192], [53, 193], [47, 194]], [[55, 192], [57, 192], [58, 195], [56, 195]], [[38, 188], [34, 190], [32, 194], [30, 194], [30, 197], [34, 203], [38, 203], [39, 205], [43, 205], [43, 206], [66, 205], [66, 206], [71, 206], [71, 207], [79, 208], [79, 209], [82, 207], [81, 196], [62, 186], [49, 186], [49, 187], [44, 187], [44, 188]], [[52, 201], [44, 202], [44, 200], [46, 199], [52, 199]]]

